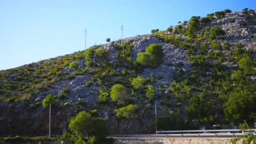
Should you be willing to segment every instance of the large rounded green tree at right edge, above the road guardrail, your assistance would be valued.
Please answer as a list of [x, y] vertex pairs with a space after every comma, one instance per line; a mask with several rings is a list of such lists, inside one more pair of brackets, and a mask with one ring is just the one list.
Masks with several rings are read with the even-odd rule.
[[248, 90], [230, 92], [226, 102], [224, 114], [227, 120], [234, 123], [241, 123], [244, 120], [253, 122], [256, 112], [256, 97]]

